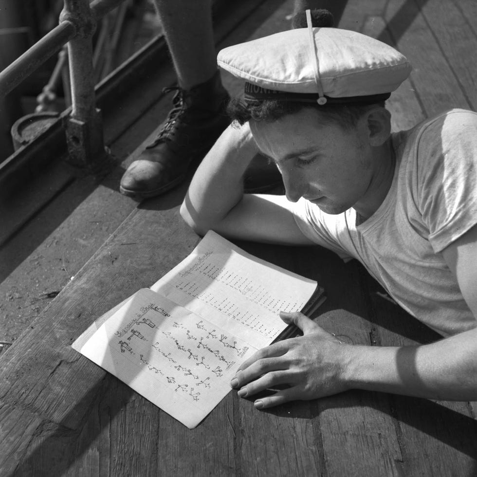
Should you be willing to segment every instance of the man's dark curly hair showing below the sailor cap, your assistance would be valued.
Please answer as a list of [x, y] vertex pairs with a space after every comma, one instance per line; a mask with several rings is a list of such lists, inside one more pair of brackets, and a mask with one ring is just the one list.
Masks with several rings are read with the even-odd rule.
[[266, 99], [256, 104], [247, 104], [241, 98], [233, 98], [227, 106], [227, 113], [236, 125], [243, 125], [251, 119], [254, 121], [274, 122], [288, 114], [297, 113], [305, 108], [316, 110], [326, 123], [335, 123], [342, 128], [350, 129], [356, 126], [358, 119], [370, 108], [381, 106], [376, 104], [332, 104], [318, 105], [298, 101], [277, 101]]

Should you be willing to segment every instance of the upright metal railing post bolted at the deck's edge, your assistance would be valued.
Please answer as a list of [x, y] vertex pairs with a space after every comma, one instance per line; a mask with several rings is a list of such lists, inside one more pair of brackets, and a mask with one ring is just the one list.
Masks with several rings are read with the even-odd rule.
[[72, 112], [65, 117], [69, 160], [74, 165], [97, 169], [105, 156], [101, 113], [96, 109], [92, 65], [92, 35], [96, 18], [89, 0], [64, 0], [60, 22], [70, 21], [76, 36], [68, 42]]

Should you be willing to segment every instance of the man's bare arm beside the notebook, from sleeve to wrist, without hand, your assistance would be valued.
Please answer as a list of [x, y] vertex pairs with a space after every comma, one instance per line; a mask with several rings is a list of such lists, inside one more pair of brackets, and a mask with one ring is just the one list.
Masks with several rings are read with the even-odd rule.
[[[477, 320], [477, 225], [442, 255]], [[477, 400], [477, 328], [430, 345], [350, 352], [349, 379], [355, 387], [433, 399]]]

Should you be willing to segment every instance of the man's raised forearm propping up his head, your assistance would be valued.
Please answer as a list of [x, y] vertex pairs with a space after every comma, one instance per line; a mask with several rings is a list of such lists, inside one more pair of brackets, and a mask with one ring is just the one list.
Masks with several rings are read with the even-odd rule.
[[213, 228], [241, 200], [242, 177], [256, 153], [248, 125], [229, 126], [222, 133], [198, 167], [181, 207], [196, 232]]

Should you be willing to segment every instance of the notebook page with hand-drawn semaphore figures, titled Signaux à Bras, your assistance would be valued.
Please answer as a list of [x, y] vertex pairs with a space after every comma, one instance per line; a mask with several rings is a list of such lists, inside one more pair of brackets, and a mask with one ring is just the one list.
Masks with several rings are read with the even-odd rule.
[[149, 289], [134, 294], [80, 349], [190, 429], [220, 403], [255, 351]]

